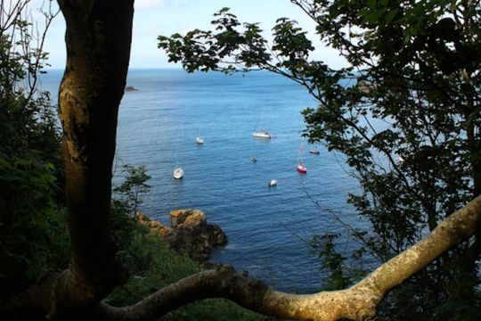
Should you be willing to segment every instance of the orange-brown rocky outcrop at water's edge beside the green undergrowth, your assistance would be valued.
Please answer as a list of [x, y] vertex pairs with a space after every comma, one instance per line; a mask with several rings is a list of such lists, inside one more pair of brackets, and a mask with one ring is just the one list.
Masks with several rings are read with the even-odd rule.
[[159, 235], [171, 249], [200, 262], [208, 259], [215, 246], [227, 243], [224, 231], [215, 224], [208, 224], [207, 216], [201, 210], [171, 211], [171, 226], [164, 226], [142, 213], [137, 213], [135, 218], [148, 226], [151, 233]]

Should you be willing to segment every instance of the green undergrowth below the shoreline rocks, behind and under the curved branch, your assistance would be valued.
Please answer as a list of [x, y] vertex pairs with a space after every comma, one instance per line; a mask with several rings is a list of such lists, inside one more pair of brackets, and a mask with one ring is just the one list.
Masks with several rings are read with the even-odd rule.
[[[131, 276], [125, 285], [110, 293], [107, 303], [118, 307], [133, 304], [168, 284], [202, 270], [197, 262], [169, 250], [159, 236], [152, 235], [146, 227], [128, 218], [119, 205], [114, 202], [112, 230], [119, 246], [118, 255]], [[175, 309], [160, 320], [273, 319], [243, 309], [229, 300], [210, 299]]]

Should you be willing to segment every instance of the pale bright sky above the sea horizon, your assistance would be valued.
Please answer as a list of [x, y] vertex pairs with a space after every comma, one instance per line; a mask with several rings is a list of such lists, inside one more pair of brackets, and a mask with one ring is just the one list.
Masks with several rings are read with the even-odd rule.
[[[42, 0], [35, 0], [31, 8], [40, 3]], [[184, 34], [192, 29], [210, 29], [213, 13], [223, 7], [231, 8], [241, 22], [260, 22], [267, 39], [270, 38], [268, 31], [278, 18], [294, 19], [313, 40], [316, 47], [313, 58], [328, 62], [331, 67], [344, 65], [337, 52], [314, 41], [314, 21], [289, 0], [135, 0], [130, 68], [179, 67], [167, 62], [167, 54], [157, 48], [157, 37], [170, 36], [175, 32]], [[38, 18], [35, 10], [32, 12], [34, 19]], [[63, 69], [65, 66], [64, 34], [65, 21], [59, 14], [45, 41], [45, 51], [49, 53], [48, 62], [52, 69]]]

